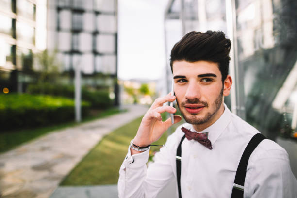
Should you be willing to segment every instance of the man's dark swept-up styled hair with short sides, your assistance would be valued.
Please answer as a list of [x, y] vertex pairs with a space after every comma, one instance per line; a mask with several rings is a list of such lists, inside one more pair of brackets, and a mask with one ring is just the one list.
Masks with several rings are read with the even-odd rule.
[[231, 41], [221, 31], [189, 32], [171, 50], [171, 71], [174, 61], [212, 61], [218, 63], [224, 82], [229, 70], [230, 49]]

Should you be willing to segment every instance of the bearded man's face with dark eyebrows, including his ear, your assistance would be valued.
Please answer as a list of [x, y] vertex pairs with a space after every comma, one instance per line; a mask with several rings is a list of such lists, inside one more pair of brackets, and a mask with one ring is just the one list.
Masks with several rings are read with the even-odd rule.
[[222, 115], [223, 95], [229, 95], [230, 89], [224, 90], [217, 63], [175, 61], [173, 78], [177, 104], [186, 122], [203, 130]]

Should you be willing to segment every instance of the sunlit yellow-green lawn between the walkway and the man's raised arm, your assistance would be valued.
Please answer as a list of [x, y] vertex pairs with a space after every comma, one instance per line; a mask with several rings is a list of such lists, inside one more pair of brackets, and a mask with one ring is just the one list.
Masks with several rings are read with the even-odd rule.
[[[165, 118], [165, 114], [162, 117]], [[142, 116], [103, 137], [60, 185], [75, 186], [117, 183], [119, 167], [128, 152], [128, 146], [137, 132], [141, 119]], [[180, 123], [173, 125], [172, 128], [176, 128]], [[155, 144], [164, 144], [166, 138], [165, 132]], [[157, 151], [159, 147], [152, 146], [151, 150]]]

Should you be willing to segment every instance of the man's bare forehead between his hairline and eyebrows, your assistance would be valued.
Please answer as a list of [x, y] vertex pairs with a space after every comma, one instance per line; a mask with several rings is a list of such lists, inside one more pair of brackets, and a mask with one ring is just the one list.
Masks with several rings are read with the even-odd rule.
[[218, 63], [211, 61], [174, 61], [172, 64], [173, 75], [199, 75], [204, 73], [214, 73], [221, 75]]

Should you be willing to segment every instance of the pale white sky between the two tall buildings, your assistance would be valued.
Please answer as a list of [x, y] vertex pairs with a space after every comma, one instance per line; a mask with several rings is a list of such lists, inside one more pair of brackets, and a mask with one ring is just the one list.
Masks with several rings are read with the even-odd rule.
[[167, 1], [118, 0], [119, 79], [156, 80], [164, 75]]

